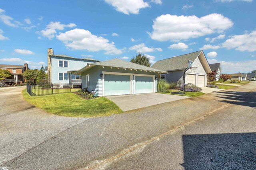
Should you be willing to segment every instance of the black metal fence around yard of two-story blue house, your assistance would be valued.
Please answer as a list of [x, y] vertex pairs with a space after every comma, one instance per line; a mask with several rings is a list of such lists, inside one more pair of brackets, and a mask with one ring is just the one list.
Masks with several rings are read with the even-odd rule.
[[44, 96], [50, 94], [61, 94], [76, 92], [82, 89], [82, 84], [40, 84], [40, 85], [29, 85], [27, 84], [27, 92], [30, 96]]

